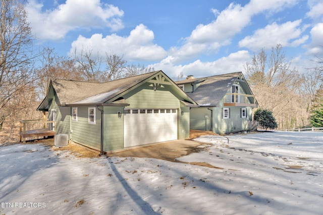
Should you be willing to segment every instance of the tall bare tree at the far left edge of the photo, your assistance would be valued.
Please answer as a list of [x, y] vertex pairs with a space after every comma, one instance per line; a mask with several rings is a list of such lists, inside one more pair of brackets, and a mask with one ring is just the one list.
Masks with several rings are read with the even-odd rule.
[[[7, 117], [24, 108], [35, 76], [31, 65], [33, 37], [23, 0], [0, 0], [0, 130]], [[10, 120], [9, 120], [10, 121]]]

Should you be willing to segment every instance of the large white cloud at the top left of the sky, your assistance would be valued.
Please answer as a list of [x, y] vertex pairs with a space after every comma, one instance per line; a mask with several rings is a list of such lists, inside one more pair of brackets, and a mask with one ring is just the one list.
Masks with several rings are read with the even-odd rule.
[[42, 8], [36, 0], [26, 5], [28, 21], [39, 39], [62, 39], [76, 29], [105, 27], [117, 31], [124, 27], [121, 20], [124, 12], [113, 5], [101, 4], [100, 0], [67, 0], [53, 10]]

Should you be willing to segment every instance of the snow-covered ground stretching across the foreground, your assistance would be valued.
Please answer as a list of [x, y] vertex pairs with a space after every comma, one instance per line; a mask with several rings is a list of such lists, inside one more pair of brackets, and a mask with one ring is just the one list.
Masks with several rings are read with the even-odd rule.
[[201, 136], [179, 158], [0, 147], [0, 214], [322, 214], [323, 133]]

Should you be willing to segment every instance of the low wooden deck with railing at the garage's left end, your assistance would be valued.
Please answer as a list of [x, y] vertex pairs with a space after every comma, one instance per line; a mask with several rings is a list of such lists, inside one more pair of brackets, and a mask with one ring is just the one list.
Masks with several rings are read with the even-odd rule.
[[26, 137], [47, 136], [55, 133], [55, 121], [47, 120], [20, 120], [19, 125], [19, 141], [23, 138], [24, 142]]

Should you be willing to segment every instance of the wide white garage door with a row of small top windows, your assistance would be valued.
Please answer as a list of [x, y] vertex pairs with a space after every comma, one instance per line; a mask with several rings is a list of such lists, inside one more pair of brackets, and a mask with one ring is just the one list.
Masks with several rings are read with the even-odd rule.
[[177, 139], [177, 109], [125, 109], [124, 147]]

